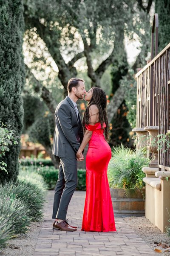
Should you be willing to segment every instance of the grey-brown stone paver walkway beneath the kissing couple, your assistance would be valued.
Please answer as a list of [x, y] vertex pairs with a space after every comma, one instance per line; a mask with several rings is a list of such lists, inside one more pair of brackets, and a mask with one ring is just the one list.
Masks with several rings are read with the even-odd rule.
[[156, 253], [122, 218], [115, 218], [117, 232], [81, 231], [85, 192], [76, 191], [68, 207], [69, 223], [78, 226], [75, 232], [52, 229], [54, 191], [48, 191], [45, 219], [34, 256], [155, 256]]

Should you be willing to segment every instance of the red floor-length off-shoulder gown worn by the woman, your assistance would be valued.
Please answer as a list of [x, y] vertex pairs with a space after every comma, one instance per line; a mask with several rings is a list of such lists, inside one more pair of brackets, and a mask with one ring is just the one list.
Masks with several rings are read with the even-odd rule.
[[116, 231], [107, 177], [111, 148], [105, 141], [104, 130], [99, 122], [87, 125], [86, 128], [93, 131], [93, 134], [86, 155], [86, 197], [82, 230]]

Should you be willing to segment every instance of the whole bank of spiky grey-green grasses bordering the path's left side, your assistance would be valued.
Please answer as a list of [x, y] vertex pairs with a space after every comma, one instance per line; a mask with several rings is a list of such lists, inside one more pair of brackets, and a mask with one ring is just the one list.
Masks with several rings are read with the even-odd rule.
[[45, 189], [41, 175], [29, 171], [21, 171], [16, 182], [0, 185], [0, 248], [8, 239], [26, 233], [30, 221], [42, 219]]

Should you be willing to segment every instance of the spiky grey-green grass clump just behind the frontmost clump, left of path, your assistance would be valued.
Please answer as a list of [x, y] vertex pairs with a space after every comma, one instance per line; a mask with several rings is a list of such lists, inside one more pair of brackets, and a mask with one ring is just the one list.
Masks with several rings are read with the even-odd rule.
[[30, 210], [31, 221], [40, 221], [43, 218], [45, 197], [40, 188], [35, 184], [18, 180], [15, 183], [4, 183], [0, 191], [6, 193], [9, 197], [12, 195], [14, 198], [23, 201], [23, 204]]

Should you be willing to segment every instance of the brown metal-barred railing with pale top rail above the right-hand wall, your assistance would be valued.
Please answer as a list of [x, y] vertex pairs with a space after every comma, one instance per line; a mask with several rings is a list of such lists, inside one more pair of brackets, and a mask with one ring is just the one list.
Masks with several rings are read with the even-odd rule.
[[[155, 57], [153, 56], [156, 26]], [[170, 44], [158, 52], [158, 15], [153, 20], [151, 61], [136, 74], [136, 128], [159, 127], [159, 134], [170, 132]], [[162, 135], [163, 137], [163, 135]], [[159, 148], [159, 169], [170, 170], [170, 149], [166, 143]]]

